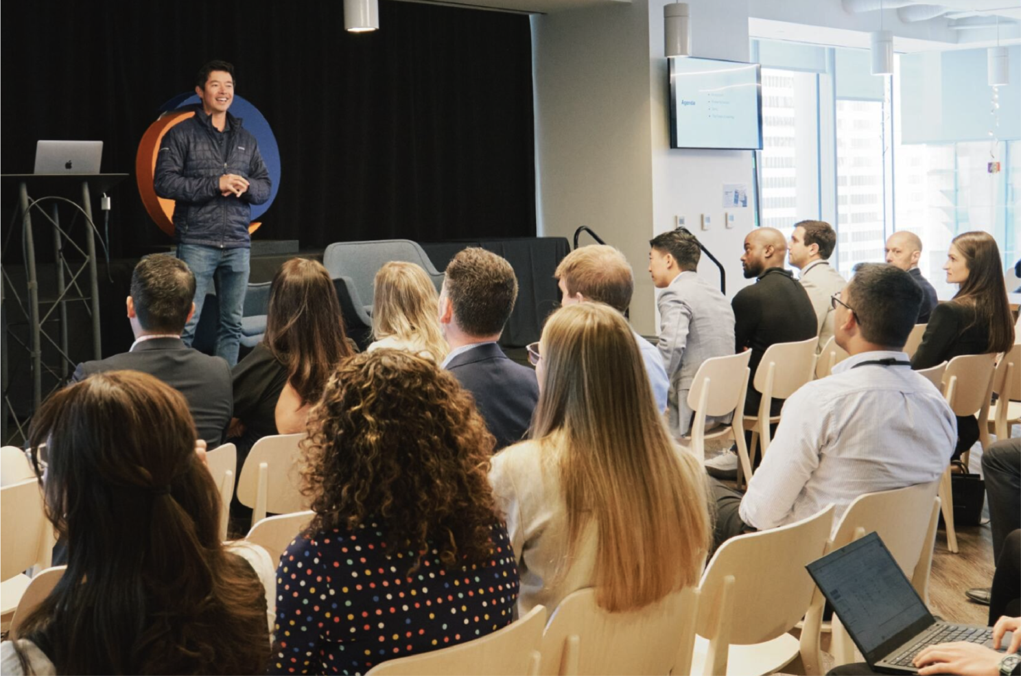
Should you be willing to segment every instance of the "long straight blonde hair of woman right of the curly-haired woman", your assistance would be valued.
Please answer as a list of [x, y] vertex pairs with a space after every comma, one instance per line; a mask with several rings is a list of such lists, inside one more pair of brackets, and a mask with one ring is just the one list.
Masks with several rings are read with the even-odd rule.
[[541, 351], [532, 438], [560, 444], [568, 561], [594, 521], [601, 608], [637, 610], [695, 584], [711, 536], [704, 473], [668, 434], [631, 327], [609, 305], [569, 305], [547, 321]]

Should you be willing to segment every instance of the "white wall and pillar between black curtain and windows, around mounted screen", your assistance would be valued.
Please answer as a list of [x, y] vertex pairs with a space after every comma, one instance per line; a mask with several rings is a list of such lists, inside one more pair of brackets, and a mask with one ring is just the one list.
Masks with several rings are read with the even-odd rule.
[[[741, 241], [751, 206], [724, 228], [724, 183], [751, 190], [748, 151], [670, 149], [665, 0], [581, 8], [532, 18], [540, 235], [570, 237], [579, 225], [619, 247], [635, 269], [631, 320], [657, 331], [646, 271], [648, 240], [687, 226], [727, 265], [727, 292], [744, 284]], [[747, 60], [747, 0], [691, 0], [695, 56]], [[750, 195], [749, 195], [750, 199]], [[714, 224], [698, 230], [699, 214]], [[708, 260], [699, 273], [715, 283]]]

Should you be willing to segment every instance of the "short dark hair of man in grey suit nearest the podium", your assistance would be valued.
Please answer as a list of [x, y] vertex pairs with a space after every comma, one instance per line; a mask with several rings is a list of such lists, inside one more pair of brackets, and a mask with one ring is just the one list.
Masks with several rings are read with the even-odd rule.
[[143, 329], [181, 333], [195, 299], [195, 275], [180, 258], [165, 253], [146, 256], [132, 273], [131, 297]]

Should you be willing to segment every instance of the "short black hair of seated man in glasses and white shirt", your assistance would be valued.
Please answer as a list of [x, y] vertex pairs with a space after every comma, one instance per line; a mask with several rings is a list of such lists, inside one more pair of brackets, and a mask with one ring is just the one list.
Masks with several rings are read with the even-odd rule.
[[896, 265], [863, 262], [855, 265], [844, 302], [855, 308], [862, 337], [870, 343], [903, 347], [915, 328], [922, 305], [922, 287]]

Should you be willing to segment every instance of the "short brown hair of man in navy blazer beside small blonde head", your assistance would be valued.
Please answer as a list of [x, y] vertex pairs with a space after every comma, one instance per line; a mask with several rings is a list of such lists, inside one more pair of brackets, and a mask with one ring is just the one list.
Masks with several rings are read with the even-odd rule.
[[461, 250], [447, 264], [444, 286], [457, 326], [471, 336], [503, 331], [518, 299], [510, 263], [477, 246]]

